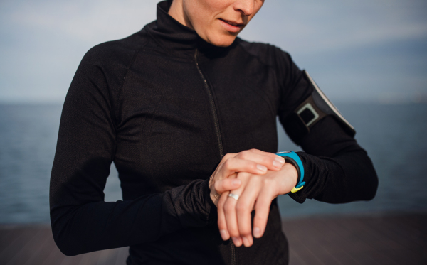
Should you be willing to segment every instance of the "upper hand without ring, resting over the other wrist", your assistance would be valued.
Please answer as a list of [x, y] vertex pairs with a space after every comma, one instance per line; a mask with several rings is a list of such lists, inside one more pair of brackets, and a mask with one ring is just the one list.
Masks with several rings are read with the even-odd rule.
[[227, 153], [209, 180], [212, 201], [218, 205], [222, 193], [240, 187], [241, 180], [236, 178], [238, 172], [264, 175], [268, 170], [279, 171], [284, 163], [282, 157], [258, 149]]

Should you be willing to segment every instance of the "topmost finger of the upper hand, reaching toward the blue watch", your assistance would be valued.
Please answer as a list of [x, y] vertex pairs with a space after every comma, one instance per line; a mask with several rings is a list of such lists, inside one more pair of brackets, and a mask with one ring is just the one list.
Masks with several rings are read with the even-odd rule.
[[267, 167], [272, 171], [278, 171], [285, 164], [285, 160], [275, 155], [274, 153], [267, 153], [257, 149], [251, 149], [248, 151], [241, 151], [234, 158], [240, 158], [243, 160], [250, 160]]

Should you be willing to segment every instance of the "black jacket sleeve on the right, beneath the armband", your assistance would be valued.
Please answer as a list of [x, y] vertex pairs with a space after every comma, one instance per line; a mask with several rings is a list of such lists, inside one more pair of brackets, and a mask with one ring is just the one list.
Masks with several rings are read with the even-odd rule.
[[[310, 96], [312, 88], [288, 53], [281, 52], [276, 58], [282, 83], [278, 116], [287, 134], [292, 135], [292, 128], [285, 125], [290, 114]], [[297, 154], [304, 166], [306, 182], [302, 190], [290, 194], [295, 201], [302, 203], [315, 198], [344, 203], [374, 198], [378, 178], [371, 159], [333, 117], [318, 121], [295, 144], [305, 151]]]

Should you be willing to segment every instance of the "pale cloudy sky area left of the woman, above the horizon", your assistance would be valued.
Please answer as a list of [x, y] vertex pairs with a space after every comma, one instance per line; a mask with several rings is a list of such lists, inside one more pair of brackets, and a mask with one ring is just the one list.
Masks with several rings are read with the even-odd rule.
[[156, 18], [156, 0], [1, 1], [0, 101], [59, 101], [85, 52]]

